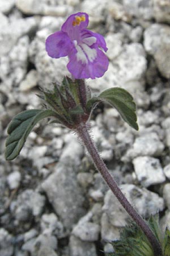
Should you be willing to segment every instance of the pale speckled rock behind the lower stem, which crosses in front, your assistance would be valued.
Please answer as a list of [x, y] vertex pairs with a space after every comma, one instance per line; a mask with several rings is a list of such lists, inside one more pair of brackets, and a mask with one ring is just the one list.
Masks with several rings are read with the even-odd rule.
[[[121, 190], [137, 212], [145, 218], [148, 218], [151, 214], [156, 214], [158, 210], [162, 211], [164, 209], [162, 197], [148, 191], [146, 188], [141, 189], [133, 184], [123, 184], [121, 185]], [[127, 224], [126, 221], [129, 215], [110, 190], [104, 198], [103, 212], [107, 214], [108, 227], [111, 225], [113, 229]]]

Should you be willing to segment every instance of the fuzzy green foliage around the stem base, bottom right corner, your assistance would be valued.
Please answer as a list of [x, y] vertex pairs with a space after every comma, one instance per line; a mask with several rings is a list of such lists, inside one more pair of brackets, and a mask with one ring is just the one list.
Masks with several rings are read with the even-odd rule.
[[[167, 228], [163, 237], [159, 227], [159, 217], [151, 216], [148, 226], [162, 246], [163, 256], [170, 256], [170, 230]], [[121, 230], [120, 240], [113, 241], [114, 253], [108, 256], [154, 256], [154, 251], [147, 237], [137, 224], [131, 223]]]

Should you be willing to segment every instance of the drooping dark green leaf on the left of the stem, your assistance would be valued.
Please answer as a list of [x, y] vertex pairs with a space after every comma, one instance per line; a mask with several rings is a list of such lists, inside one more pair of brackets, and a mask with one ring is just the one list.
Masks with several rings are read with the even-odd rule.
[[19, 113], [12, 119], [7, 130], [9, 135], [6, 140], [6, 160], [13, 160], [19, 155], [33, 126], [46, 117], [55, 117], [55, 112], [31, 109]]

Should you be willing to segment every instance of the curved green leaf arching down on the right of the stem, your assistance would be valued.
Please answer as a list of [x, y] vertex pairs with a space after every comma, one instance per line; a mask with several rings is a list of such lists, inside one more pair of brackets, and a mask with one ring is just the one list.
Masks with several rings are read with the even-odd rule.
[[120, 113], [121, 117], [135, 130], [138, 130], [136, 105], [133, 97], [125, 89], [114, 87], [102, 92], [100, 100], [107, 101], [108, 104], [114, 106]]

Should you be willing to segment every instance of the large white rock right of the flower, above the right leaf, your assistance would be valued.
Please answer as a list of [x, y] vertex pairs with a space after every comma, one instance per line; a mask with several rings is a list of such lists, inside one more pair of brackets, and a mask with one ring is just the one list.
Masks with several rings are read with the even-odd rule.
[[[95, 81], [91, 80], [90, 87], [101, 92], [114, 86], [120, 86], [133, 94], [136, 101], [140, 99], [137, 102], [138, 105], [144, 105], [147, 100], [146, 93], [143, 92], [146, 67], [145, 50], [142, 44], [125, 44], [120, 54], [109, 63], [109, 68], [105, 75]], [[139, 97], [139, 94], [141, 97]]]

